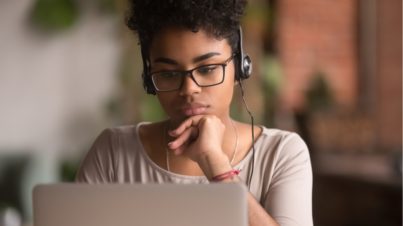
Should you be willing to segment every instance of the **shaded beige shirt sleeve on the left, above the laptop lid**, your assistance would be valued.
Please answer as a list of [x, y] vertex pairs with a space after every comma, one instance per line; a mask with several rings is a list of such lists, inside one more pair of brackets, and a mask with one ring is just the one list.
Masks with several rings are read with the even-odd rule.
[[112, 129], [105, 129], [87, 152], [77, 172], [75, 183], [113, 183], [117, 165], [118, 139]]

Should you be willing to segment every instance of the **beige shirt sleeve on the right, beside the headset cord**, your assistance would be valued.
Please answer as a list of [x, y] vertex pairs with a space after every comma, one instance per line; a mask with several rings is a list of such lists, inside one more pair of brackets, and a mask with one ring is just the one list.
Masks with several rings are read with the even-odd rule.
[[275, 158], [266, 212], [281, 226], [312, 226], [312, 167], [305, 142], [295, 133], [285, 136]]

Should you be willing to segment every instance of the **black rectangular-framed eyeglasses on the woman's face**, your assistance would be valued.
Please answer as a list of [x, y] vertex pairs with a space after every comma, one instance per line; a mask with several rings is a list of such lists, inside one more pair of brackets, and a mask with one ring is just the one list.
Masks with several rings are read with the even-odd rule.
[[190, 74], [192, 80], [201, 87], [215, 86], [224, 82], [225, 66], [234, 59], [236, 54], [225, 64], [208, 64], [188, 71], [166, 70], [149, 73], [156, 90], [169, 92], [180, 89], [185, 76]]

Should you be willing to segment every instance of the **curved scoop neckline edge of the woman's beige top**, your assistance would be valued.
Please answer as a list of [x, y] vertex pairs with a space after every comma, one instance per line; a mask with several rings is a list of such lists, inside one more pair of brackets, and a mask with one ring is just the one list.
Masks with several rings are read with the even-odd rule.
[[[182, 174], [172, 173], [172, 172], [167, 171], [167, 170], [164, 169], [164, 168], [161, 168], [161, 167], [158, 166], [155, 162], [153, 162], [153, 161], [151, 160], [150, 156], [148, 156], [147, 153], [145, 152], [143, 143], [141, 143], [140, 135], [139, 135], [139, 127], [140, 127], [140, 125], [145, 125], [145, 124], [150, 124], [150, 123], [151, 123], [151, 122], [141, 122], [141, 123], [138, 123], [138, 124], [134, 127], [135, 139], [136, 139], [136, 141], [137, 141], [137, 145], [139, 146], [140, 153], [141, 153], [141, 155], [143, 156], [143, 158], [145, 159], [145, 161], [146, 161], [148, 164], [150, 164], [150, 166], [151, 166], [152, 168], [154, 168], [156, 171], [158, 171], [158, 172], [160, 172], [160, 173], [162, 173], [162, 174], [164, 174], [164, 175], [170, 176], [170, 177], [175, 177], [175, 178], [178, 178], [178, 179], [195, 180], [195, 181], [207, 180], [206, 176], [188, 176], [188, 175], [182, 175]], [[262, 139], [260, 139], [260, 138], [262, 137], [262, 135], [264, 134], [264, 131], [265, 131], [265, 127], [264, 127], [264, 126], [262, 126], [262, 125], [257, 125], [257, 126], [259, 126], [259, 127], [262, 128], [262, 133], [260, 134], [258, 140], [255, 141], [255, 152], [256, 152], [256, 145], [260, 143], [260, 140], [262, 140]], [[238, 164], [236, 164], [235, 166], [233, 166], [234, 169], [239, 170], [239, 168], [240, 168], [241, 165], [245, 164], [245, 162], [247, 162], [247, 161], [250, 160], [250, 158], [252, 157], [252, 154], [253, 154], [253, 148], [251, 148], [251, 149], [248, 151], [248, 153], [245, 155], [245, 157], [244, 157], [240, 162], [238, 162]], [[255, 156], [256, 156], [256, 153], [255, 153]]]

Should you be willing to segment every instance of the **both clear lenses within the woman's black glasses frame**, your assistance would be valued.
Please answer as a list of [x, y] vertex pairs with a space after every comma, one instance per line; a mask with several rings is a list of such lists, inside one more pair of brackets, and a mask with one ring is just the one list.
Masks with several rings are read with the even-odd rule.
[[[222, 82], [224, 67], [221, 65], [205, 66], [193, 70], [192, 74], [199, 86], [212, 86]], [[181, 86], [182, 74], [177, 71], [158, 72], [152, 74], [152, 80], [157, 90], [175, 90]]]

